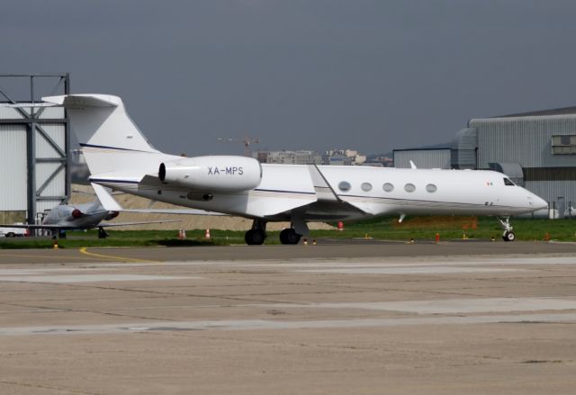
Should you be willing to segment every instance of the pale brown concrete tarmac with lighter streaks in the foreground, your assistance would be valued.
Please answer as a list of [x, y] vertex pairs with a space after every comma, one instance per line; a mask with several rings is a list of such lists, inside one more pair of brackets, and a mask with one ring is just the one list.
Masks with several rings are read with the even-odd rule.
[[341, 243], [0, 250], [0, 393], [574, 393], [576, 244]]

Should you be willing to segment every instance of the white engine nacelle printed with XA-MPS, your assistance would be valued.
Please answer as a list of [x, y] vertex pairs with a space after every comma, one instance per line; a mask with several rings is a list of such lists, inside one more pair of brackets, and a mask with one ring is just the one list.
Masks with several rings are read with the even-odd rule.
[[251, 157], [186, 157], [160, 164], [158, 177], [196, 191], [242, 192], [260, 184], [262, 166]]

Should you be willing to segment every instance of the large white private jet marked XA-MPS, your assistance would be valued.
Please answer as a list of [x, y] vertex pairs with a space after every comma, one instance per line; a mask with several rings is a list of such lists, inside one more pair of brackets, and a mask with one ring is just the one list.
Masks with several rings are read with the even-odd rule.
[[308, 221], [391, 214], [400, 215], [400, 220], [410, 214], [498, 216], [504, 240], [512, 241], [509, 216], [547, 206], [536, 194], [493, 171], [261, 165], [250, 157], [167, 155], [148, 143], [120, 97], [70, 94], [43, 101], [40, 105], [67, 109], [104, 207], [115, 207], [104, 188], [108, 187], [250, 218], [252, 229], [245, 236], [249, 245], [264, 242], [269, 221], [290, 221], [291, 228], [280, 233], [280, 240], [297, 244], [309, 232]]

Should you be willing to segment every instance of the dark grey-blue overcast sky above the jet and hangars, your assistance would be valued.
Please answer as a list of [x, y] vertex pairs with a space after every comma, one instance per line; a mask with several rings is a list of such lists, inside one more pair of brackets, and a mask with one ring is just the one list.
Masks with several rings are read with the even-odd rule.
[[0, 73], [120, 95], [169, 153], [241, 154], [217, 138], [251, 136], [375, 154], [575, 105], [575, 21], [573, 1], [14, 0]]

